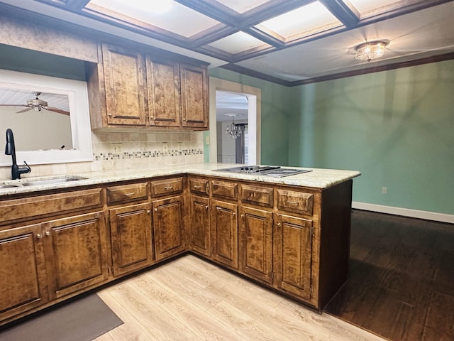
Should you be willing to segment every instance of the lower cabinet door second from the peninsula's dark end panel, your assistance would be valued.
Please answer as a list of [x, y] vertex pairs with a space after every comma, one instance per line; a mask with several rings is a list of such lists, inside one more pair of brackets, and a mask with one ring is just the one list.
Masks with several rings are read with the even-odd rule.
[[240, 217], [240, 271], [272, 283], [272, 212], [241, 207]]

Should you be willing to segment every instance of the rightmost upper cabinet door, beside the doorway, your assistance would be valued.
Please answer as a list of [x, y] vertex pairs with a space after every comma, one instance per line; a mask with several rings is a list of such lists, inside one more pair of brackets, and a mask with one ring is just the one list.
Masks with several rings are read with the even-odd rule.
[[208, 127], [208, 79], [205, 67], [181, 64], [182, 126]]

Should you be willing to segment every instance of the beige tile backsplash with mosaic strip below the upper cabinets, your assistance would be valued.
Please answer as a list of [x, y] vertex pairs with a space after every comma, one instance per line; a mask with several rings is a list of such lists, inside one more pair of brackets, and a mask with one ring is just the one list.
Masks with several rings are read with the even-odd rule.
[[[202, 131], [96, 131], [92, 147], [91, 162], [32, 165], [32, 173], [26, 176], [204, 162]], [[10, 177], [11, 167], [0, 167], [0, 179]]]

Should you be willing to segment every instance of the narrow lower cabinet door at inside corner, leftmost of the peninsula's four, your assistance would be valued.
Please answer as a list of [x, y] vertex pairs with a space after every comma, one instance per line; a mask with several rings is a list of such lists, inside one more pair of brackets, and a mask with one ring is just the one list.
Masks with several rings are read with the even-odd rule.
[[210, 237], [210, 216], [208, 197], [196, 197], [191, 195], [191, 229], [192, 229], [192, 250], [211, 256], [211, 237]]

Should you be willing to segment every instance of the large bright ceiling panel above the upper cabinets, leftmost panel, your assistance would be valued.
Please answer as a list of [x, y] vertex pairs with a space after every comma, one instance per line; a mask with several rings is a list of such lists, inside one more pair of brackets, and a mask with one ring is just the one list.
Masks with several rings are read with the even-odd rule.
[[219, 23], [209, 16], [204, 16], [171, 0], [91, 0], [86, 7], [96, 11], [99, 11], [99, 8], [106, 9], [109, 16], [116, 16], [117, 13], [116, 18], [123, 21], [131, 18], [133, 19], [131, 23], [137, 24], [137, 21], [141, 21], [186, 38]]

